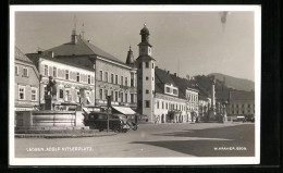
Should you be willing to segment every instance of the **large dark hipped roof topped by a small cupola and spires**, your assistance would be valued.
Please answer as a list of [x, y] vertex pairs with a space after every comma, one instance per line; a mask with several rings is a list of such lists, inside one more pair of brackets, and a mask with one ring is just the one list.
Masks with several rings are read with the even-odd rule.
[[53, 51], [54, 55], [89, 55], [89, 54], [95, 54], [108, 60], [112, 60], [119, 63], [124, 64], [121, 60], [118, 58], [113, 57], [112, 54], [103, 51], [102, 49], [94, 46], [87, 40], [84, 40], [81, 37], [76, 37], [77, 42], [66, 42], [61, 46], [48, 49], [47, 51]]

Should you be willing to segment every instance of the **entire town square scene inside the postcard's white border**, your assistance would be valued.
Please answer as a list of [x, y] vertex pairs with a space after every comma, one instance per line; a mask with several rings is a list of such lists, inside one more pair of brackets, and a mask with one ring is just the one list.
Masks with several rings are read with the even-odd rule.
[[13, 157], [258, 157], [255, 16], [15, 11]]

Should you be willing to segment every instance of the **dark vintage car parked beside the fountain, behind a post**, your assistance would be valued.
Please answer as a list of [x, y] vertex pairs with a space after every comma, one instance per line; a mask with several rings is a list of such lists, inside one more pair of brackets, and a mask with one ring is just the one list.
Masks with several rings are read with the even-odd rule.
[[[99, 129], [100, 132], [107, 129], [108, 114], [103, 112], [84, 113], [84, 124], [91, 129]], [[126, 132], [130, 126], [119, 116], [109, 114], [109, 129], [113, 132]]]

